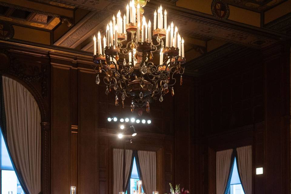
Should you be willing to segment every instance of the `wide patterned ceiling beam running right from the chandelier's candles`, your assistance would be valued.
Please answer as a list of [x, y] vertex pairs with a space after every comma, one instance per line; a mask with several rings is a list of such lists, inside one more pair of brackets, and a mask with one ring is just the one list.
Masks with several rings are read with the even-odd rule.
[[[158, 2], [150, 2], [147, 8], [154, 11]], [[212, 15], [185, 8], [167, 5], [166, 9], [169, 13], [169, 20], [179, 24], [179, 31], [182, 35], [185, 33], [192, 36], [200, 35], [207, 38], [216, 38], [256, 49], [261, 49], [282, 39], [289, 38], [279, 32], [230, 20], [218, 20]]]

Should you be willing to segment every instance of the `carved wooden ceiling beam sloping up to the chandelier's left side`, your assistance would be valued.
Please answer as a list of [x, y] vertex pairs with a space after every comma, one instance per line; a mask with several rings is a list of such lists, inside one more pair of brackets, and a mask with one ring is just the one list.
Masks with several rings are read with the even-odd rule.
[[56, 41], [54, 45], [75, 48], [89, 36], [92, 36], [98, 29], [101, 29], [103, 21], [106, 21], [108, 17], [108, 13], [105, 11], [90, 12], [62, 38]]

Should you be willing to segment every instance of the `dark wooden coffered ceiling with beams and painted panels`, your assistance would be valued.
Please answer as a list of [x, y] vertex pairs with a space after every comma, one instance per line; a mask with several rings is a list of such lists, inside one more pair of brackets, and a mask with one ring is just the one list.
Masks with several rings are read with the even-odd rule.
[[[119, 9], [124, 12], [127, 2], [2, 0], [0, 25], [5, 22], [14, 27], [14, 37], [8, 41], [45, 44], [54, 49], [73, 49], [91, 55], [93, 35], [99, 30], [103, 34], [112, 15]], [[146, 18], [151, 20], [160, 4], [167, 9], [168, 21], [178, 26], [187, 43], [185, 55], [191, 65], [189, 72], [210, 68], [206, 64], [214, 59], [213, 56], [227, 56], [233, 51], [245, 51], [245, 48], [262, 49], [290, 39], [291, 0], [224, 0], [230, 12], [227, 19], [212, 15], [212, 2], [150, 0], [144, 7]]]

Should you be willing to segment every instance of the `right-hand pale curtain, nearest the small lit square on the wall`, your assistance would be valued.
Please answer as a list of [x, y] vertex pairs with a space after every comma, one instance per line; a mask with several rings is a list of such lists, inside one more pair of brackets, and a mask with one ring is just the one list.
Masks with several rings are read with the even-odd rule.
[[252, 193], [252, 146], [245, 146], [236, 149], [237, 166], [240, 180], [245, 194]]

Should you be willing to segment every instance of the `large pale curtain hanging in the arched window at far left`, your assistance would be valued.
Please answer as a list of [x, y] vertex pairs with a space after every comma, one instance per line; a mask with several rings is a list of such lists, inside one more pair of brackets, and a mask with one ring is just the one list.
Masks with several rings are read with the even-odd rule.
[[2, 76], [6, 129], [3, 136], [26, 194], [41, 192], [41, 115], [32, 94]]

